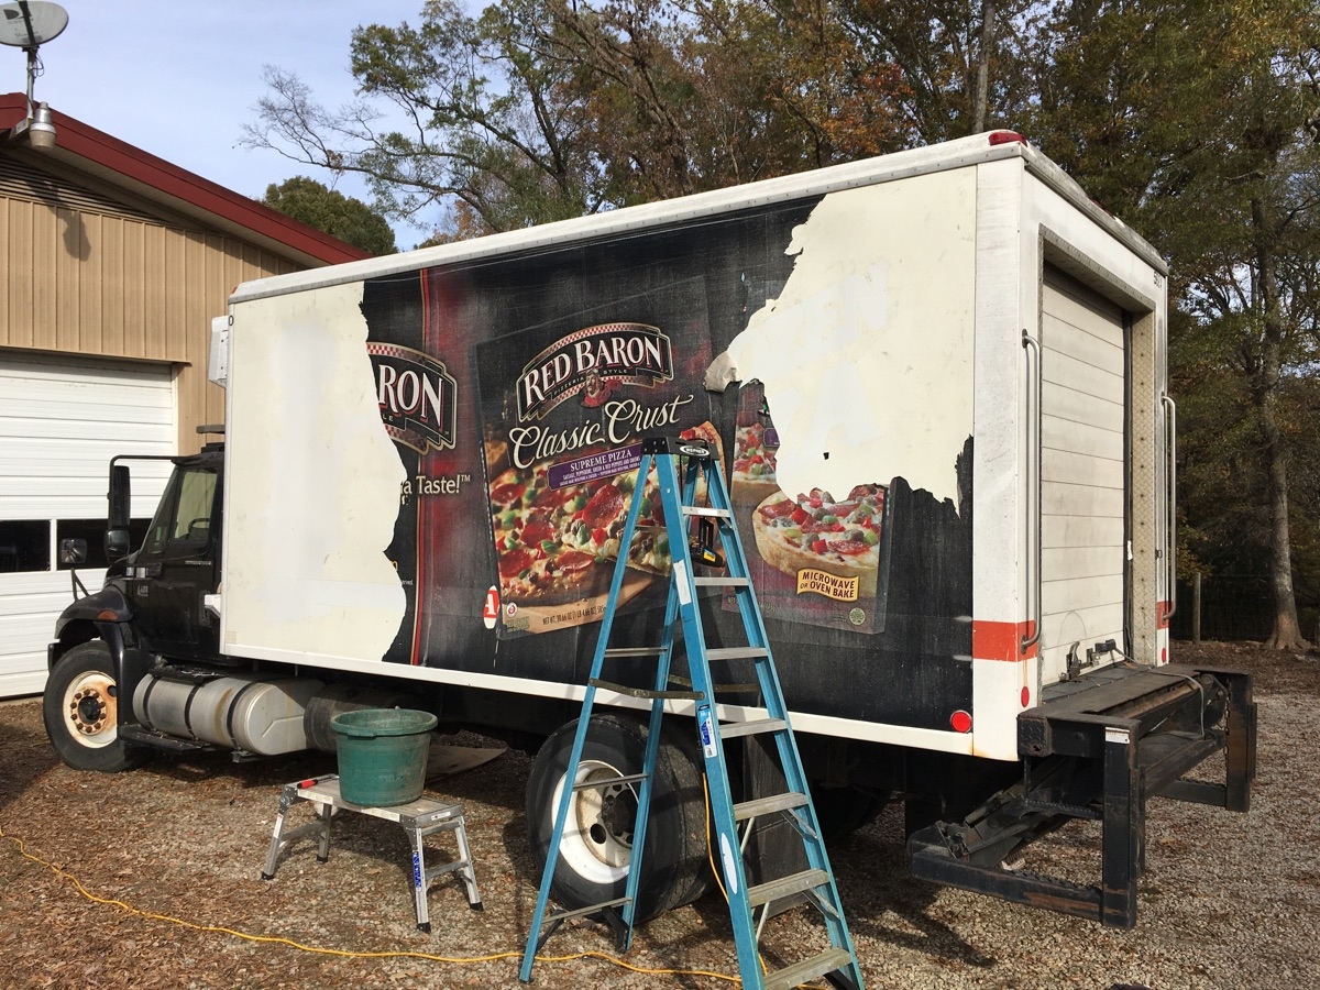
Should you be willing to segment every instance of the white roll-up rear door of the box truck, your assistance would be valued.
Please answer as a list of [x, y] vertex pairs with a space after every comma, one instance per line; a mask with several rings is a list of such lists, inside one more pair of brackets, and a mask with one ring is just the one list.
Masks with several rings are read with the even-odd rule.
[[[1123, 648], [1127, 392], [1123, 313], [1047, 269], [1041, 321], [1041, 652], [1044, 680], [1068, 651]], [[1117, 660], [1109, 655], [1100, 663]]]

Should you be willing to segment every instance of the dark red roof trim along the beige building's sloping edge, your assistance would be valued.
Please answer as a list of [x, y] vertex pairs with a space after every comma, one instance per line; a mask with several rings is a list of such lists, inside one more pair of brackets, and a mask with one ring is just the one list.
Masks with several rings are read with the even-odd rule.
[[[25, 114], [26, 98], [21, 92], [0, 95], [0, 129], [11, 129]], [[145, 183], [168, 197], [246, 227], [256, 235], [277, 240], [326, 264], [371, 257], [352, 244], [331, 238], [177, 165], [170, 165], [164, 158], [111, 137], [54, 108], [50, 114], [58, 135], [57, 144], [69, 154], [117, 172], [128, 180]]]

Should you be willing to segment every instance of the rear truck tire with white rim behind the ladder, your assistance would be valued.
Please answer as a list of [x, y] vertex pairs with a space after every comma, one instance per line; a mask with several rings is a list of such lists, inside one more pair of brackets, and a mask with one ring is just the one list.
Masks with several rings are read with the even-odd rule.
[[[635, 921], [647, 921], [694, 900], [709, 878], [706, 807], [694, 747], [668, 726], [660, 739], [652, 783], [638, 887]], [[577, 722], [560, 726], [532, 766], [527, 783], [527, 829], [536, 875], [545, 870], [554, 813], [565, 784]], [[578, 783], [639, 774], [645, 756], [647, 726], [630, 714], [593, 715], [587, 727]], [[638, 784], [579, 791], [569, 804], [550, 891], [566, 908], [583, 908], [624, 895]]]

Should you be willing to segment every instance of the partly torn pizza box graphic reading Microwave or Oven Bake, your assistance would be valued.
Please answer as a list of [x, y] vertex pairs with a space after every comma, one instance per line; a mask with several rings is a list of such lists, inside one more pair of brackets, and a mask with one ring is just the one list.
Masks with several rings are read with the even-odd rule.
[[[836, 496], [789, 495], [775, 474], [779, 436], [759, 383], [739, 397], [730, 498], [762, 612], [854, 632], [880, 632], [888, 586], [884, 484]], [[725, 609], [735, 610], [733, 595]]]

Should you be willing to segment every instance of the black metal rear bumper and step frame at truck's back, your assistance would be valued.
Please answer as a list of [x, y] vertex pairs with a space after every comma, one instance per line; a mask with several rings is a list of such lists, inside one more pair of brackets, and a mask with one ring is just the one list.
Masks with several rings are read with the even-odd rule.
[[[1018, 717], [1022, 783], [960, 822], [913, 832], [912, 873], [1131, 928], [1146, 866], [1146, 801], [1163, 796], [1247, 810], [1255, 729], [1251, 676], [1243, 671], [1119, 664], [1053, 685], [1041, 705]], [[1222, 783], [1185, 779], [1220, 751]], [[1012, 867], [1027, 845], [1074, 818], [1101, 822], [1097, 886]]]

